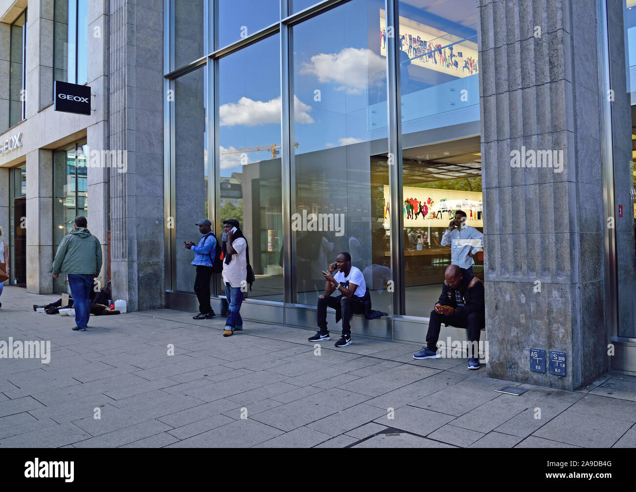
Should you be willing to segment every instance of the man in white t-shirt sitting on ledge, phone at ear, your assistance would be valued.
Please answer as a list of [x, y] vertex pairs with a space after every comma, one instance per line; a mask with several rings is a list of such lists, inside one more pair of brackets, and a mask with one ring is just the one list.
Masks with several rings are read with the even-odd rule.
[[[331, 275], [338, 270], [335, 275]], [[342, 338], [336, 342], [336, 347], [351, 345], [351, 326], [349, 324], [352, 314], [364, 313], [363, 297], [366, 294], [364, 275], [359, 268], [351, 266], [351, 256], [342, 252], [336, 257], [335, 263], [329, 265], [329, 273], [323, 273], [325, 285], [324, 295], [318, 297], [318, 328], [319, 331], [309, 341], [329, 340], [327, 329], [327, 308], [334, 308], [342, 314]], [[334, 290], [338, 289], [340, 296], [331, 297]], [[336, 322], [337, 322], [336, 315]]]

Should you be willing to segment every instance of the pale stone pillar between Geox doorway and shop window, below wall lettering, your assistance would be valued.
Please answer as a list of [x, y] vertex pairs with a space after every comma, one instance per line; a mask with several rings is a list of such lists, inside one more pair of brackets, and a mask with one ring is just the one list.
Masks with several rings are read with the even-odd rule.
[[[50, 294], [53, 277], [53, 152], [27, 154], [27, 292]], [[17, 224], [18, 226], [18, 224]]]

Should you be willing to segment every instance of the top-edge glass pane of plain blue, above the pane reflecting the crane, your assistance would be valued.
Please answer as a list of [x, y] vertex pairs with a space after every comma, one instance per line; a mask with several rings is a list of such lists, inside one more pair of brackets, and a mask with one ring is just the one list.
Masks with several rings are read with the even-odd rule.
[[[212, 1], [212, 0], [211, 0]], [[214, 0], [216, 48], [246, 38], [280, 20], [280, 0]]]

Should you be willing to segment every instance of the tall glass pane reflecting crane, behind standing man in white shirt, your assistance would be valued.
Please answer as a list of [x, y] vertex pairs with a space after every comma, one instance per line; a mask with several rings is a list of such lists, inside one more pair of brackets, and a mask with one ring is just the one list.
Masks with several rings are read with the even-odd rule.
[[218, 218], [237, 219], [247, 238], [256, 282], [245, 295], [282, 302], [279, 60], [278, 34], [221, 58], [216, 118]]

